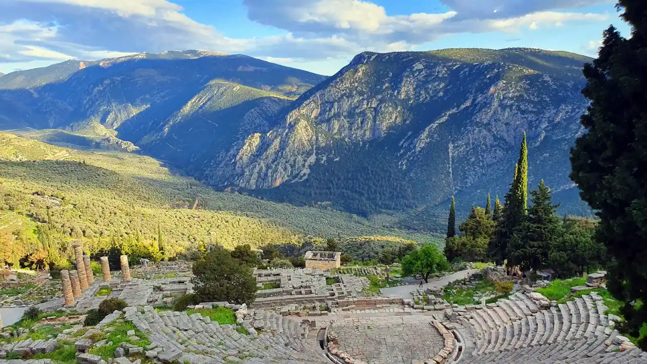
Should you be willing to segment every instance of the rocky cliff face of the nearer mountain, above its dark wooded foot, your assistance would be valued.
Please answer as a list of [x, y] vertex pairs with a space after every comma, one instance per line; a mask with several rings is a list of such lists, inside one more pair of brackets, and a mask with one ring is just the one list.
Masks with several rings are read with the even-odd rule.
[[471, 205], [505, 194], [525, 131], [529, 187], [545, 179], [573, 190], [567, 156], [582, 132], [585, 61], [528, 49], [362, 53], [206, 176], [213, 185], [297, 191], [315, 170], [362, 169], [380, 156], [419, 207], [452, 194]]

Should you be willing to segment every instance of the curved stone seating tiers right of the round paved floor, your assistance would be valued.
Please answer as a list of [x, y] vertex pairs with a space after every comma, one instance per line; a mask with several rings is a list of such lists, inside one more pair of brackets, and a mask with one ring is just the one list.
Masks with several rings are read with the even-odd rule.
[[514, 293], [460, 317], [476, 346], [461, 362], [647, 363], [647, 353], [608, 327], [607, 307], [597, 293], [556, 307], [540, 302]]

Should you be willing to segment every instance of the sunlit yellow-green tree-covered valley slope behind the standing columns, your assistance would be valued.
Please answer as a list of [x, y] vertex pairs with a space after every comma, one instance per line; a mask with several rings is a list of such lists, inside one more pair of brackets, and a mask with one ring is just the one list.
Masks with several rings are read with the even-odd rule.
[[214, 192], [150, 157], [60, 148], [4, 132], [0, 191], [0, 259], [11, 264], [56, 262], [74, 238], [89, 253], [117, 247], [153, 258], [191, 256], [212, 244], [300, 244], [308, 235], [434, 241], [349, 214]]

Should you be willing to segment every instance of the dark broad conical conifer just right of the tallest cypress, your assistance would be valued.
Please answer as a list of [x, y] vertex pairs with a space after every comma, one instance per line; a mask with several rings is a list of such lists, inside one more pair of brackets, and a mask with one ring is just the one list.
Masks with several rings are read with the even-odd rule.
[[551, 246], [564, 235], [557, 215], [559, 204], [553, 205], [551, 190], [543, 180], [531, 195], [528, 216], [514, 231], [507, 252], [509, 266], [521, 266], [522, 270], [547, 266]]

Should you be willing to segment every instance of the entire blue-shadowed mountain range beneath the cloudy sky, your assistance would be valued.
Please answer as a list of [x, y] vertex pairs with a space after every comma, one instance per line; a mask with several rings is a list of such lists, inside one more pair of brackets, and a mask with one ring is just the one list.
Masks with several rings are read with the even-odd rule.
[[465, 212], [488, 192], [502, 198], [525, 132], [529, 187], [545, 179], [561, 213], [587, 215], [568, 155], [589, 61], [363, 52], [325, 77], [204, 51], [72, 60], [2, 76], [0, 130], [136, 151], [217, 190], [432, 231], [451, 196]]

